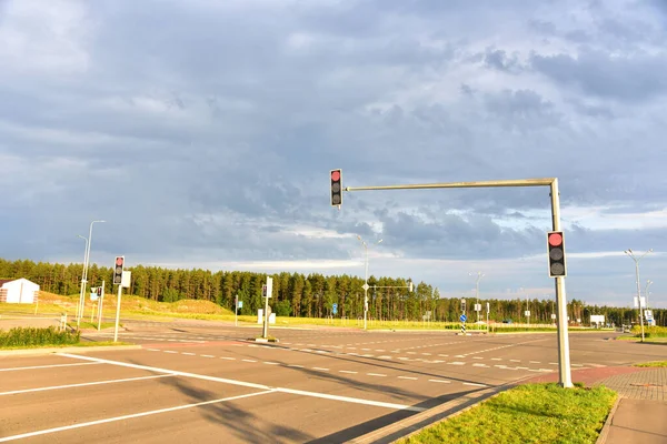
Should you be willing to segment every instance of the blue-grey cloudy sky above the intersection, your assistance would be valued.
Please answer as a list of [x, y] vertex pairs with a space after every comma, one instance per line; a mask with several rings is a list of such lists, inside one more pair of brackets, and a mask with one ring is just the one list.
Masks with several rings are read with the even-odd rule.
[[667, 3], [0, 1], [0, 254], [376, 275], [667, 307]]

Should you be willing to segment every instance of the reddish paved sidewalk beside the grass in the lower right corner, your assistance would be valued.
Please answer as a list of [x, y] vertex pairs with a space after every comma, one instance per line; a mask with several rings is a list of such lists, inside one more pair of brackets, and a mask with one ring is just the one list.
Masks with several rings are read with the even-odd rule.
[[[555, 382], [551, 373], [527, 382]], [[605, 385], [619, 401], [598, 444], [667, 444], [667, 367], [600, 367], [573, 371], [573, 382]]]

